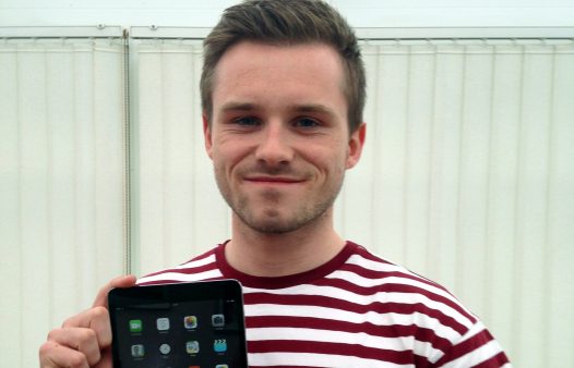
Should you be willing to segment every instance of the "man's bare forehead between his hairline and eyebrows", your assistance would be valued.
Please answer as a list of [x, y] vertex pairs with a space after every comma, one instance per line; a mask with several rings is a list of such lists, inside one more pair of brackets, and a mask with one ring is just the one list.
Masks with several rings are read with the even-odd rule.
[[229, 101], [289, 101], [346, 110], [344, 79], [343, 62], [331, 46], [242, 41], [229, 48], [216, 66], [214, 110]]

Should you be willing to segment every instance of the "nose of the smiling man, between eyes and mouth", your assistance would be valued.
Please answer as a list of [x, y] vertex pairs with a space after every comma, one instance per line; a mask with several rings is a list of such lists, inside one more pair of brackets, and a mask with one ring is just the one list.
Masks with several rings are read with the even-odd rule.
[[255, 149], [255, 158], [268, 165], [288, 163], [294, 158], [288, 130], [279, 122], [265, 124]]

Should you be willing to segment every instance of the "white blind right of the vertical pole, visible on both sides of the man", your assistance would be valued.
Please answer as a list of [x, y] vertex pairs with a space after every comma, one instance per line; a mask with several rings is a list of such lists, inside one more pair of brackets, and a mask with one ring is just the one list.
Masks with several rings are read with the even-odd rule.
[[[150, 272], [229, 225], [203, 150], [200, 49], [139, 42], [136, 268]], [[371, 40], [363, 52], [367, 147], [339, 231], [449, 286], [517, 367], [574, 360], [574, 42]]]

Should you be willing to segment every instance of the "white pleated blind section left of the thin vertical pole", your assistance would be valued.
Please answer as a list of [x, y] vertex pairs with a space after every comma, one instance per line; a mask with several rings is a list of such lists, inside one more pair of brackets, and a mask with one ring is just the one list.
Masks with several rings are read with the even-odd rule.
[[0, 40], [1, 365], [122, 273], [121, 39]]

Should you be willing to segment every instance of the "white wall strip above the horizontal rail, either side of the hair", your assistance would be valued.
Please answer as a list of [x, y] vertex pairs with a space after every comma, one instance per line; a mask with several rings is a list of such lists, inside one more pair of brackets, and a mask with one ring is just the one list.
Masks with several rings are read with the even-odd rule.
[[[236, 0], [1, 0], [0, 26], [213, 26]], [[574, 0], [331, 0], [356, 27], [572, 26]]]

